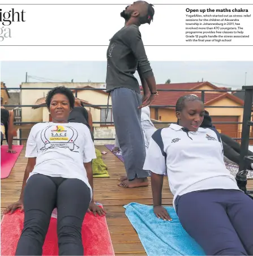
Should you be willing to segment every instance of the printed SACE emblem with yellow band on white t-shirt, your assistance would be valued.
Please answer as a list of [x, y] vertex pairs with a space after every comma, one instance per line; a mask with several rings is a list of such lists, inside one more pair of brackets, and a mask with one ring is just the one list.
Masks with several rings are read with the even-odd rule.
[[45, 151], [49, 148], [68, 148], [70, 151], [74, 151], [79, 148], [75, 144], [75, 140], [78, 138], [78, 132], [70, 126], [47, 126], [41, 132], [41, 140], [44, 143], [44, 147], [40, 150]]

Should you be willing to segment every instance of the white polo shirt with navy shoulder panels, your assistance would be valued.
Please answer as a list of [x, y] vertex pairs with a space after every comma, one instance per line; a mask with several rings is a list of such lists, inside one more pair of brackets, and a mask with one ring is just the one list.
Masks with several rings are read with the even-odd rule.
[[171, 124], [157, 130], [150, 140], [143, 169], [168, 174], [173, 205], [178, 195], [192, 191], [239, 190], [226, 169], [220, 134], [215, 129], [187, 132]]

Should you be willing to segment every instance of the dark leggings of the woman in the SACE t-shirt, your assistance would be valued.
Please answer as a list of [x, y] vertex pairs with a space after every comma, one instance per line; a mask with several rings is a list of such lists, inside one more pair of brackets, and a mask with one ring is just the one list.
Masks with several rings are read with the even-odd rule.
[[15, 255], [42, 255], [55, 207], [59, 255], [84, 255], [81, 231], [90, 199], [81, 180], [33, 174], [24, 190], [24, 228]]

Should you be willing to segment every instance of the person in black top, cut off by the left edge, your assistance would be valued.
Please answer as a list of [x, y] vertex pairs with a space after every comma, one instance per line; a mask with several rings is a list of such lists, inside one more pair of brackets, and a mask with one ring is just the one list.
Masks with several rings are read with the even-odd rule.
[[3, 139], [6, 138], [8, 143], [7, 152], [16, 153], [12, 149], [13, 135], [14, 135], [14, 112], [13, 110], [5, 109], [3, 105], [3, 98], [1, 97], [1, 146]]

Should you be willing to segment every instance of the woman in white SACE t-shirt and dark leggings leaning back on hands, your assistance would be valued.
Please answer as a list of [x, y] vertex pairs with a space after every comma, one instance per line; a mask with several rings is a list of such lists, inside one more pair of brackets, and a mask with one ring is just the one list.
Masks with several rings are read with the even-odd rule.
[[105, 214], [93, 201], [91, 161], [96, 153], [91, 133], [83, 123], [67, 122], [74, 101], [70, 89], [53, 88], [46, 96], [53, 121], [37, 123], [29, 134], [20, 199], [4, 212], [24, 208], [16, 255], [42, 255], [55, 207], [59, 255], [84, 255], [81, 230], [85, 213]]

